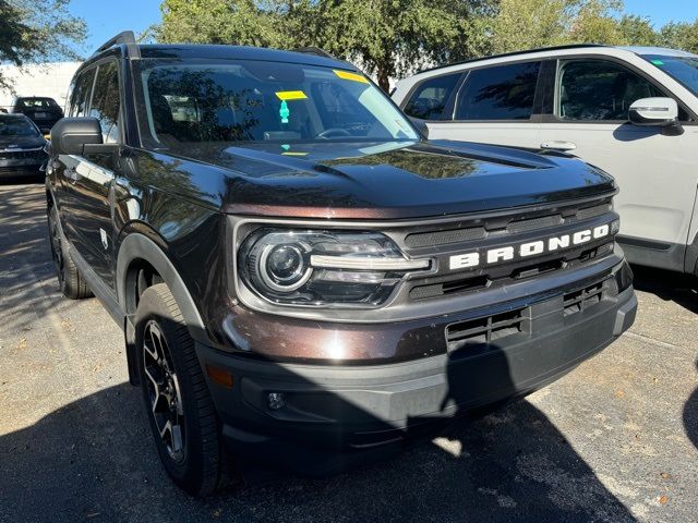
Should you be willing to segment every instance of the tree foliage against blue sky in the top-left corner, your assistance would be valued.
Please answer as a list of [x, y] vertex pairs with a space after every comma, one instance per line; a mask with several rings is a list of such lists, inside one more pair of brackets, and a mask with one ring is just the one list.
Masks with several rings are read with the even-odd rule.
[[[70, 0], [0, 0], [0, 62], [77, 58], [73, 44], [85, 38], [85, 23], [68, 12]], [[0, 75], [0, 87], [10, 87]]]

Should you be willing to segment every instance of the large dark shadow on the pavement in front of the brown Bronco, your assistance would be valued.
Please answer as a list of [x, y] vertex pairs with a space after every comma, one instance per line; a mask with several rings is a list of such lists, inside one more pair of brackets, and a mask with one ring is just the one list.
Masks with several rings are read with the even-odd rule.
[[0, 521], [634, 521], [527, 401], [461, 417], [387, 462], [194, 500], [165, 476], [140, 396], [122, 384], [0, 436]]

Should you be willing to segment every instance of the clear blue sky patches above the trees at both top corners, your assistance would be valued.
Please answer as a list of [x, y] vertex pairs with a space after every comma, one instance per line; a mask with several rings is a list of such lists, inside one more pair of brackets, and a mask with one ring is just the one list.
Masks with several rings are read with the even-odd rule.
[[[132, 29], [139, 34], [160, 21], [160, 0], [72, 0], [69, 9], [87, 23], [83, 54], [91, 54], [117, 33]], [[625, 0], [625, 10], [649, 16], [659, 28], [672, 20], [698, 19], [698, 0]]]

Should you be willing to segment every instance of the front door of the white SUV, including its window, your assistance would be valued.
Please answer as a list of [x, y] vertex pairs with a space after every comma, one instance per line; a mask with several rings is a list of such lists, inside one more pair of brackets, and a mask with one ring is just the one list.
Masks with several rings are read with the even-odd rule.
[[628, 123], [634, 101], [666, 93], [615, 61], [561, 60], [553, 85], [554, 113], [541, 124], [540, 142], [574, 144], [576, 156], [616, 179], [619, 242], [659, 255], [643, 259], [629, 248], [631, 262], [683, 270], [698, 182], [698, 127], [685, 125], [683, 135], [669, 136]]

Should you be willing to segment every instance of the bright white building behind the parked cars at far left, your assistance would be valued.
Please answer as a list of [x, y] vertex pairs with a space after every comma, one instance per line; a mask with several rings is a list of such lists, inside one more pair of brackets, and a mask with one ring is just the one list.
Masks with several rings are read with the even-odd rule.
[[81, 62], [56, 62], [0, 65], [0, 74], [10, 82], [11, 89], [0, 89], [0, 108], [10, 110], [14, 96], [48, 96], [65, 108], [70, 81]]

